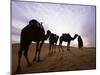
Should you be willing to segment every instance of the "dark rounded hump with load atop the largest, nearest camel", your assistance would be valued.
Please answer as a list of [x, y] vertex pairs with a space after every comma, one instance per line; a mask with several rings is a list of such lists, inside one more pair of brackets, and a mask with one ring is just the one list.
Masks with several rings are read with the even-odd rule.
[[44, 31], [44, 27], [42, 24], [43, 24], [42, 22], [40, 23], [35, 19], [32, 19], [29, 21], [29, 25], [32, 25], [34, 28], [37, 28], [37, 29]]

